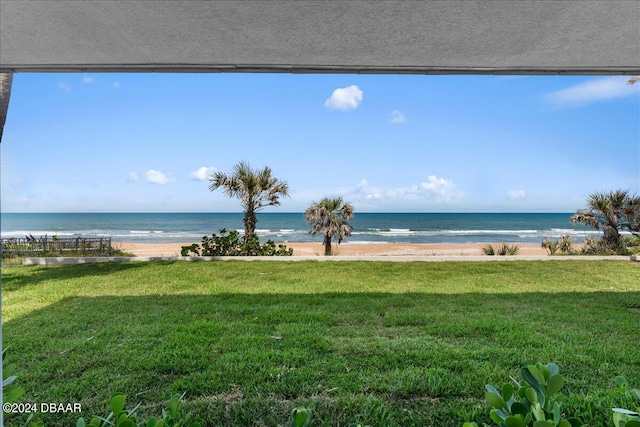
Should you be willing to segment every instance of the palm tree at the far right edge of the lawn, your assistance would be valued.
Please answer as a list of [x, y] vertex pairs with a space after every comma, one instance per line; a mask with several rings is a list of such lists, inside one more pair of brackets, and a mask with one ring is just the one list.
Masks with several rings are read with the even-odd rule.
[[571, 217], [571, 222], [586, 224], [604, 232], [604, 244], [612, 249], [620, 249], [620, 230], [624, 227], [625, 207], [632, 200], [628, 191], [616, 190], [609, 193], [593, 193], [587, 199], [588, 208], [579, 210]]

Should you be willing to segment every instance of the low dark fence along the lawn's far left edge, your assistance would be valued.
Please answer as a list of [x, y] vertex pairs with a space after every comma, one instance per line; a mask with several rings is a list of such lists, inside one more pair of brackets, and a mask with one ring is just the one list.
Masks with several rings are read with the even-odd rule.
[[111, 256], [111, 237], [2, 239], [2, 256]]

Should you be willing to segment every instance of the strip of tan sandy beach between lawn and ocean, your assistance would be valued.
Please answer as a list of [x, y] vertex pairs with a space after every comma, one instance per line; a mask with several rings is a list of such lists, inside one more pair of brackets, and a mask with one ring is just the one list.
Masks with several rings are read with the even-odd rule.
[[[193, 243], [193, 242], [192, 242]], [[502, 242], [491, 243], [494, 247]], [[180, 256], [182, 246], [191, 243], [114, 243], [114, 247], [136, 256]], [[276, 243], [277, 244], [277, 243]], [[323, 256], [321, 243], [286, 243], [294, 256]], [[477, 256], [483, 255], [486, 243], [469, 244], [411, 244], [411, 243], [343, 243], [333, 246], [334, 255], [340, 256]], [[540, 245], [518, 244], [519, 255], [547, 255]]]

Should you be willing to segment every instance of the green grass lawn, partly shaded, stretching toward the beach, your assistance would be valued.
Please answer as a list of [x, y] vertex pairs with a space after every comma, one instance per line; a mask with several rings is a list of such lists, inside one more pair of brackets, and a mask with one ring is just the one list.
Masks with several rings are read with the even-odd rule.
[[[211, 426], [489, 422], [484, 385], [553, 361], [570, 415], [608, 425], [640, 385], [640, 264], [156, 262], [5, 267], [4, 346], [31, 402], [171, 394]], [[25, 399], [25, 398], [23, 398]], [[20, 417], [7, 425], [21, 425]], [[75, 425], [75, 424], [74, 424]]]

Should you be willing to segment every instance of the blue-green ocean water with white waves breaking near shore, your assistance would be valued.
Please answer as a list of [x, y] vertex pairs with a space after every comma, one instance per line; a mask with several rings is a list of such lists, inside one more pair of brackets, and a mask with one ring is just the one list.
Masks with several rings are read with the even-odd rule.
[[[353, 243], [536, 243], [565, 234], [577, 242], [598, 232], [570, 213], [356, 213]], [[2, 238], [57, 235], [111, 237], [114, 242], [195, 243], [221, 228], [242, 231], [242, 213], [3, 213]], [[302, 213], [260, 213], [262, 241], [312, 242]]]

